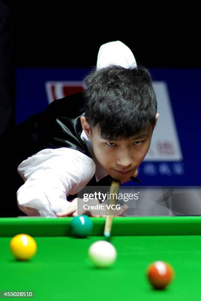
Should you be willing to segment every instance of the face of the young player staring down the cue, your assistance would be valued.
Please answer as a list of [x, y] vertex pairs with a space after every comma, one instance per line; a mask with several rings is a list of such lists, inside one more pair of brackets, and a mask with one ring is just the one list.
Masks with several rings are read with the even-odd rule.
[[153, 125], [142, 133], [128, 139], [107, 140], [100, 136], [98, 127], [90, 130], [88, 136], [94, 154], [104, 170], [116, 180], [129, 181], [149, 150]]

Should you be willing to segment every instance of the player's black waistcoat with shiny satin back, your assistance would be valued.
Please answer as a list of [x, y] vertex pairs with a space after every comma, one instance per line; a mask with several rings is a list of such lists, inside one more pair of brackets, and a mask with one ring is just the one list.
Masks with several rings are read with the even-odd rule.
[[[69, 148], [92, 157], [85, 143], [80, 138], [82, 127], [80, 117], [84, 116], [84, 98], [76, 93], [53, 101], [39, 114], [16, 127], [17, 164], [34, 153], [44, 149]], [[98, 183], [95, 176], [88, 185], [109, 185], [107, 176]]]

